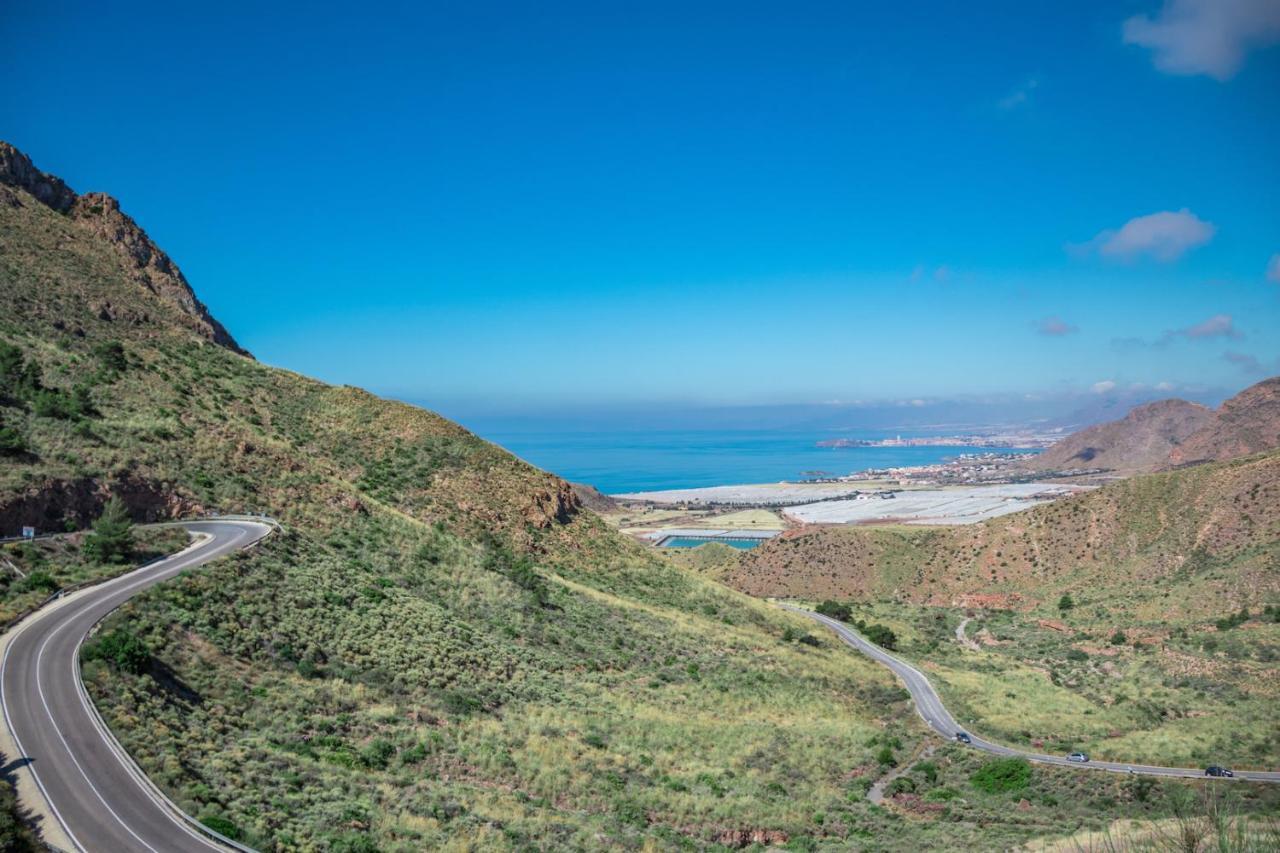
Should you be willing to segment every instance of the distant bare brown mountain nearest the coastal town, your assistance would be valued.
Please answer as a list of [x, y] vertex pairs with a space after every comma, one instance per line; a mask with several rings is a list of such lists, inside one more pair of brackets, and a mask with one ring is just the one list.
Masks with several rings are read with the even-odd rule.
[[1037, 471], [1153, 471], [1167, 464], [1174, 448], [1213, 420], [1213, 410], [1206, 406], [1160, 400], [1137, 406], [1120, 420], [1073, 433], [1021, 465]]

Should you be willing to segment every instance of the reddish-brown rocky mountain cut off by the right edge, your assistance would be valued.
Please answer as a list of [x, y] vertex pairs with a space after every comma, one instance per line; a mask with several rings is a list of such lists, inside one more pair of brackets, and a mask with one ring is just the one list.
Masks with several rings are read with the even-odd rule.
[[1280, 377], [1263, 379], [1222, 403], [1216, 416], [1169, 453], [1189, 465], [1261, 453], [1280, 447]]

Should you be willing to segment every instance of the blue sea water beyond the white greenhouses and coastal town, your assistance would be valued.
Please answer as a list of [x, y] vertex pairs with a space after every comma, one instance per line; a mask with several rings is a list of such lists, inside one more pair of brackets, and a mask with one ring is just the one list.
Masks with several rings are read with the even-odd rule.
[[[650, 430], [481, 433], [525, 461], [602, 492], [648, 492], [737, 483], [777, 483], [852, 474], [869, 467], [927, 465], [974, 447], [818, 447], [827, 438], [886, 433], [790, 430]], [[905, 434], [905, 433], [904, 433]]]

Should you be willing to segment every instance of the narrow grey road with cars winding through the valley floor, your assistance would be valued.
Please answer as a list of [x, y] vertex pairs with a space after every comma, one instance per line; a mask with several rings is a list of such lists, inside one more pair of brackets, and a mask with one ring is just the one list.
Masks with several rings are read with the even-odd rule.
[[[1021, 749], [1012, 749], [1010, 747], [1004, 747], [998, 743], [991, 743], [989, 740], [983, 740], [978, 735], [973, 734], [965, 726], [956, 722], [951, 712], [946, 710], [942, 704], [942, 699], [938, 698], [937, 692], [929, 680], [924, 678], [924, 674], [918, 669], [904, 661], [902, 658], [890, 654], [879, 646], [876, 646], [861, 634], [849, 628], [844, 622], [840, 622], [829, 616], [823, 616], [822, 613], [815, 613], [812, 610], [804, 610], [803, 607], [796, 607], [794, 605], [782, 605], [782, 607], [801, 613], [813, 619], [814, 621], [822, 622], [831, 630], [836, 631], [845, 643], [852, 646], [859, 652], [870, 657], [893, 671], [897, 678], [902, 680], [906, 685], [908, 692], [911, 694], [911, 699], [915, 702], [915, 710], [920, 717], [929, 725], [931, 729], [937, 731], [940, 735], [951, 740], [955, 738], [957, 731], [968, 731], [969, 736], [973, 739], [970, 744], [974, 749], [980, 749], [983, 752], [989, 752], [996, 756], [1014, 756], [1018, 758], [1027, 758], [1028, 761], [1034, 761], [1042, 765], [1057, 765], [1061, 767], [1071, 767], [1075, 770], [1102, 770], [1115, 774], [1138, 774], [1143, 776], [1178, 776], [1187, 779], [1204, 779], [1204, 770], [1193, 770], [1189, 767], [1156, 767], [1152, 765], [1125, 765], [1114, 761], [1089, 761], [1089, 762], [1074, 762], [1068, 761], [1062, 756], [1046, 756], [1038, 752], [1024, 752]], [[1265, 783], [1280, 783], [1280, 772], [1272, 771], [1258, 771], [1258, 770], [1236, 770], [1236, 780], [1247, 781], [1265, 781]], [[1230, 781], [1224, 779], [1222, 781]]]

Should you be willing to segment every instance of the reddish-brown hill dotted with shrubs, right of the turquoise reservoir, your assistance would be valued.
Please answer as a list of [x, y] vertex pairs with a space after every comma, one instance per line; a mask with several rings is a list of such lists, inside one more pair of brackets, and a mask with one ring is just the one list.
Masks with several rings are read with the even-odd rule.
[[1219, 615], [1280, 594], [1280, 452], [1148, 474], [955, 528], [813, 528], [744, 555], [753, 596], [1030, 608], [1108, 593]]

